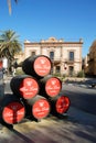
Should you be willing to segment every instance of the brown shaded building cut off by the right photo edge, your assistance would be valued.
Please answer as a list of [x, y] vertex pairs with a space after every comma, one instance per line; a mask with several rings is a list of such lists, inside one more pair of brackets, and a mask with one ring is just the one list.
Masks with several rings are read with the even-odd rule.
[[89, 47], [87, 75], [96, 76], [96, 41]]

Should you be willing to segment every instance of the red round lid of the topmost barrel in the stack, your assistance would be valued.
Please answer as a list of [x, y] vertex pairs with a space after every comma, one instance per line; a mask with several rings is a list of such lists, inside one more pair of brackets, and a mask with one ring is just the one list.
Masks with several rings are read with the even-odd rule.
[[51, 61], [46, 56], [39, 56], [34, 61], [34, 70], [36, 75], [44, 77], [51, 72]]

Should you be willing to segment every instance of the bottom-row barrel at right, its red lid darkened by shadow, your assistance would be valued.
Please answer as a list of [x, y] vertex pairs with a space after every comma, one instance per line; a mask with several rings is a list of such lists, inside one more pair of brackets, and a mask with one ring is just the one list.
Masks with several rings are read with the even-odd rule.
[[67, 96], [57, 96], [55, 98], [50, 98], [51, 113], [54, 116], [63, 114], [67, 112], [71, 101]]

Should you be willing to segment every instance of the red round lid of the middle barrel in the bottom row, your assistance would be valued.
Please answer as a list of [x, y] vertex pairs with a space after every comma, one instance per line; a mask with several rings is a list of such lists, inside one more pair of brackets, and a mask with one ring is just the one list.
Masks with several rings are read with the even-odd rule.
[[33, 105], [32, 112], [35, 119], [45, 118], [50, 112], [50, 103], [45, 99], [39, 99]]

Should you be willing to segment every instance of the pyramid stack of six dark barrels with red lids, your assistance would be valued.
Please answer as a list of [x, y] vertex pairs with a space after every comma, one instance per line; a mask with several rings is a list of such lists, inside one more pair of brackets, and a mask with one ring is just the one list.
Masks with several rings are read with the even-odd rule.
[[24, 75], [10, 81], [13, 94], [1, 101], [0, 112], [6, 123], [14, 124], [23, 118], [41, 120], [49, 114], [57, 117], [68, 110], [70, 99], [61, 95], [62, 81], [51, 75], [52, 63], [47, 56], [28, 57], [23, 61], [22, 70]]

